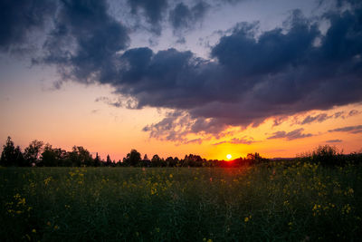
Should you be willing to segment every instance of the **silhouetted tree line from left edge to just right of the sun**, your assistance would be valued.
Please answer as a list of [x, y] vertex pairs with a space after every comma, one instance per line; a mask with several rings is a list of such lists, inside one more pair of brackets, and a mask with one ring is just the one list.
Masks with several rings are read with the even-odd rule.
[[24, 149], [14, 145], [14, 141], [7, 137], [1, 153], [0, 165], [4, 167], [235, 167], [255, 162], [262, 162], [259, 153], [250, 153], [246, 158], [231, 161], [206, 160], [199, 155], [189, 154], [184, 159], [177, 157], [160, 158], [155, 154], [151, 159], [144, 155], [143, 159], [138, 150], [130, 150], [123, 160], [100, 159], [98, 153], [95, 158], [90, 151], [82, 146], [73, 146], [71, 151], [53, 148], [51, 144], [33, 140]]

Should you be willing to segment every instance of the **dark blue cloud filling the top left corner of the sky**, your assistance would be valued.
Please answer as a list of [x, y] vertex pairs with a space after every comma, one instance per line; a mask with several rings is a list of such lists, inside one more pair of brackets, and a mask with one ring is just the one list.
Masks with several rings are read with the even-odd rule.
[[55, 7], [52, 0], [0, 1], [0, 50], [7, 52], [29, 44], [29, 34], [43, 29]]

